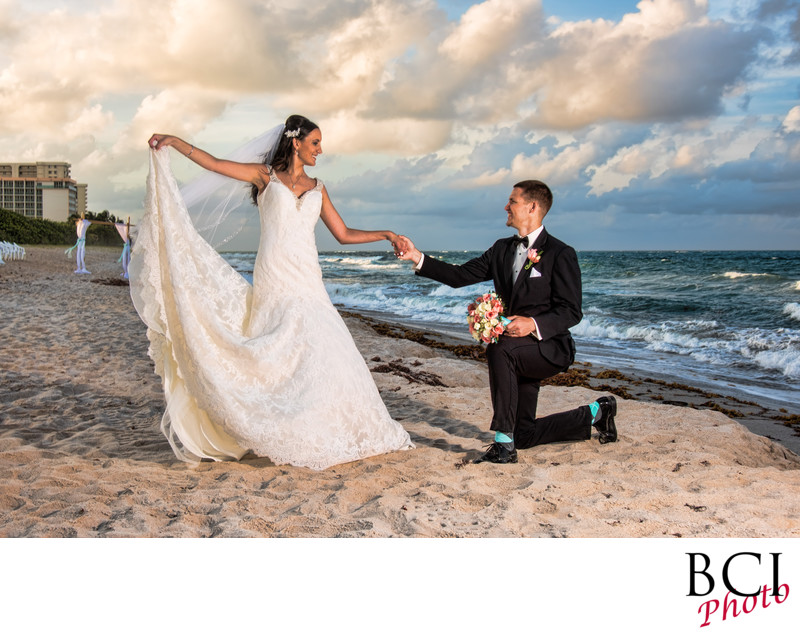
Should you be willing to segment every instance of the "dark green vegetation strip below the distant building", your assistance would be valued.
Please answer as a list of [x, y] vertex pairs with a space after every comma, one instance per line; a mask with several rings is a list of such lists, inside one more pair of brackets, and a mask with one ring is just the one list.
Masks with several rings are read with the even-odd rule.
[[[117, 222], [117, 218], [108, 210], [99, 214], [87, 212], [86, 219]], [[0, 209], [0, 241], [19, 245], [73, 245], [77, 239], [74, 218], [66, 222], [46, 221]], [[122, 239], [112, 225], [91, 225], [86, 232], [86, 245], [122, 247]]]

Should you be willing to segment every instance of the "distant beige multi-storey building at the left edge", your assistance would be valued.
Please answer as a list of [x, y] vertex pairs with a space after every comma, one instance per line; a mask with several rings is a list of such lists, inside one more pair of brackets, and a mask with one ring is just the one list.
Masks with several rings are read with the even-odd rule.
[[63, 161], [0, 163], [0, 208], [50, 221], [85, 214], [87, 186], [70, 178], [69, 169]]

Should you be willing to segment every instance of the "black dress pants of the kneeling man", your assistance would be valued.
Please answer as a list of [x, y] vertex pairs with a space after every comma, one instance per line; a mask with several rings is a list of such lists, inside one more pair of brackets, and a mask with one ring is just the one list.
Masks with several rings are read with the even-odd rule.
[[536, 417], [541, 381], [563, 371], [542, 356], [538, 340], [500, 336], [497, 343], [486, 348], [486, 356], [494, 407], [491, 430], [513, 435], [517, 448], [581, 441], [592, 436], [588, 406]]

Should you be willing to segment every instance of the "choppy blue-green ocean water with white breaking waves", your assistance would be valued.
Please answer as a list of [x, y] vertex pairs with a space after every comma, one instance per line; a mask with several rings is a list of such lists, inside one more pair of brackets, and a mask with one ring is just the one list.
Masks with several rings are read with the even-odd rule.
[[[480, 252], [432, 252], [463, 263]], [[252, 280], [254, 253], [223, 254]], [[579, 252], [578, 360], [764, 406], [800, 407], [800, 252]], [[331, 300], [471, 341], [466, 307], [492, 289], [451, 289], [388, 252], [323, 252]]]

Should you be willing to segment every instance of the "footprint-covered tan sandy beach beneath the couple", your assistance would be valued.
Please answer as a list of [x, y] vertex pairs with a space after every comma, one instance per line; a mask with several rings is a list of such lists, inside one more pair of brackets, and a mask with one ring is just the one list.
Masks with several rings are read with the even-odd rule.
[[0, 266], [0, 536], [800, 536], [790, 413], [594, 369], [579, 352], [572, 386], [544, 387], [539, 412], [614, 390], [619, 442], [471, 464], [491, 440], [485, 364], [356, 315], [348, 327], [416, 449], [320, 472], [179, 462], [119, 251], [87, 248], [86, 276], [57, 247]]

